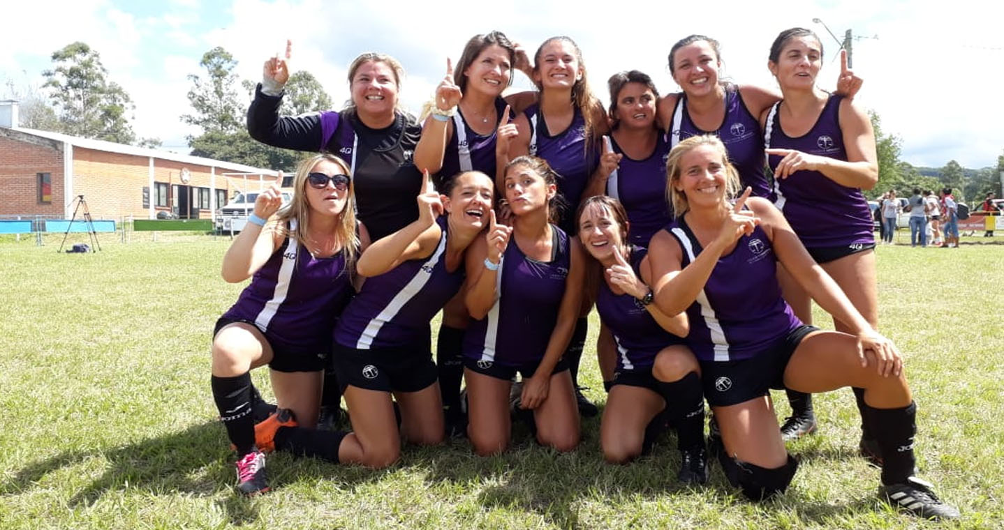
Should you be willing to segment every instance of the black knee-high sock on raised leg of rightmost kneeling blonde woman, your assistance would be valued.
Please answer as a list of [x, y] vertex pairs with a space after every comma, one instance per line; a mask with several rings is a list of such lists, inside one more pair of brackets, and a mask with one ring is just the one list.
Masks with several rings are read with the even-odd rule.
[[917, 434], [917, 404], [900, 409], [868, 409], [865, 419], [882, 450], [883, 484], [901, 484], [914, 474], [914, 436]]

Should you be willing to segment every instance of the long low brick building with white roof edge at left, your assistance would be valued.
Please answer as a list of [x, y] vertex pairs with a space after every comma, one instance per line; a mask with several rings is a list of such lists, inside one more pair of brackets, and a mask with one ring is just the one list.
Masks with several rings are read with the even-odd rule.
[[276, 179], [271, 169], [20, 128], [0, 101], [0, 216], [69, 218], [83, 195], [94, 218], [213, 218], [238, 190]]

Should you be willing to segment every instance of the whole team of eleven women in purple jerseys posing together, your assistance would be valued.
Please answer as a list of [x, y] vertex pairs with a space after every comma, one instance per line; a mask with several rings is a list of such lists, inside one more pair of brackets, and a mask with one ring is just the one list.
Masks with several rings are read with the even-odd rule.
[[[719, 48], [691, 35], [667, 50], [654, 67], [680, 92], [613, 74], [604, 108], [572, 38], [475, 35], [419, 117], [392, 56], [352, 61], [345, 108], [299, 116], [279, 112], [292, 44], [266, 60], [248, 132], [315, 154], [291, 201], [258, 195], [223, 258], [225, 281], [250, 280], [212, 343], [237, 490], [268, 491], [273, 451], [385, 468], [403, 444], [466, 437], [488, 456], [513, 422], [575, 451], [580, 418], [600, 413], [578, 377], [595, 311], [611, 465], [672, 430], [666, 473], [707, 487], [720, 466], [768, 499], [796, 475], [785, 442], [817, 428], [812, 394], [850, 387], [878, 497], [958, 518], [916, 476], [917, 405], [876, 331], [861, 79], [842, 52], [835, 85], [817, 79], [823, 46], [803, 28], [763, 50], [777, 87], [723, 79]], [[536, 90], [510, 88], [517, 70]], [[812, 326], [812, 301], [835, 331]], [[252, 383], [263, 366], [275, 404]], [[771, 389], [792, 411], [780, 422]]]

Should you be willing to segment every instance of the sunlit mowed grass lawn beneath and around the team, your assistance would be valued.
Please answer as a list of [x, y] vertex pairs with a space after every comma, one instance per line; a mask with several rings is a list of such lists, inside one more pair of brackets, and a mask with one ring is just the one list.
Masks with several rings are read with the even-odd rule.
[[[673, 436], [634, 464], [604, 464], [598, 419], [563, 455], [521, 428], [499, 457], [454, 440], [406, 447], [383, 471], [277, 454], [274, 490], [241, 498], [209, 389], [213, 323], [243, 287], [219, 277], [229, 240], [105, 236], [88, 254], [58, 243], [0, 240], [3, 529], [939, 527], [876, 500], [849, 390], [817, 397], [820, 432], [790, 446], [801, 467], [765, 504], [734, 493], [717, 465], [707, 487], [680, 487]], [[881, 329], [905, 352], [920, 406], [922, 476], [963, 513], [946, 527], [1002, 528], [1004, 245], [877, 253]], [[601, 405], [592, 319], [582, 373]], [[255, 378], [268, 394], [266, 371]]]

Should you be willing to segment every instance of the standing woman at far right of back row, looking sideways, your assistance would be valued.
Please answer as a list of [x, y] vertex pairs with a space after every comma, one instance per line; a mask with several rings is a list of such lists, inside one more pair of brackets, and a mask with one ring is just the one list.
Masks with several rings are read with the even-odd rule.
[[[781, 32], [771, 46], [768, 67], [784, 95], [760, 118], [777, 207], [812, 258], [877, 328], [874, 230], [861, 193], [878, 179], [871, 122], [849, 99], [816, 88], [822, 45], [811, 31]], [[886, 233], [892, 240], [892, 230]], [[784, 299], [802, 322], [811, 324], [808, 296], [781, 271]], [[837, 331], [848, 331], [838, 320], [833, 324]], [[863, 411], [862, 391], [854, 389], [854, 396]], [[815, 428], [811, 402], [792, 408], [789, 437]], [[880, 458], [867, 422], [861, 425], [859, 449], [865, 458]]]

